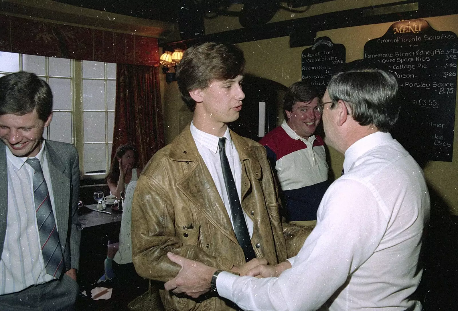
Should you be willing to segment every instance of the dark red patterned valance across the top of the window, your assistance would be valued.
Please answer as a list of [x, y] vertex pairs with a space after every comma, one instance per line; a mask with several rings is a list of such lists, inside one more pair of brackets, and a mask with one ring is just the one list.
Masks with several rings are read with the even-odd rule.
[[158, 39], [0, 14], [0, 51], [159, 66]]

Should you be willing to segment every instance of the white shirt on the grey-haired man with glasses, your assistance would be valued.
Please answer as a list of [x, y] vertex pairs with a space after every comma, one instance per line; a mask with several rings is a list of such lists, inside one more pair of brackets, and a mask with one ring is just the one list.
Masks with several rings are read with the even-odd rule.
[[350, 146], [344, 168], [292, 268], [264, 279], [222, 272], [219, 295], [245, 310], [421, 310], [409, 299], [430, 209], [421, 168], [381, 132]]

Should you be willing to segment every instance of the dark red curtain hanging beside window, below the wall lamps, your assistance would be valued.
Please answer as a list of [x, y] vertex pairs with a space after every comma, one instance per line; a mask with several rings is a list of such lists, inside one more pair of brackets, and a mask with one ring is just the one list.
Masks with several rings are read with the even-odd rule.
[[136, 146], [141, 167], [164, 147], [158, 67], [117, 65], [111, 158], [127, 143]]

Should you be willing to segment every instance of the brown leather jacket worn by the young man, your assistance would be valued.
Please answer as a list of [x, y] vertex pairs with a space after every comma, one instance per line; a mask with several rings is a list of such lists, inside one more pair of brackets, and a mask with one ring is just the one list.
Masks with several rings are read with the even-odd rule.
[[[232, 131], [230, 135], [240, 156], [241, 204], [254, 223], [251, 243], [256, 257], [277, 264], [299, 251], [309, 231], [282, 224], [265, 148]], [[132, 259], [137, 273], [163, 282], [174, 278], [180, 266], [168, 259], [169, 251], [227, 271], [245, 263], [189, 125], [148, 162], [132, 201]], [[165, 290], [160, 294], [168, 310], [234, 310], [231, 302], [214, 293], [198, 299]]]

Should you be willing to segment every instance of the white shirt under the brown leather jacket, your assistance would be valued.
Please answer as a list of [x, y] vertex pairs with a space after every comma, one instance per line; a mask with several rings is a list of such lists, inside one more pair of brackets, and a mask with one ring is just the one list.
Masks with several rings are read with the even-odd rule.
[[[226, 191], [226, 185], [224, 184], [224, 176], [223, 170], [221, 169], [221, 160], [219, 159], [219, 148], [218, 148], [218, 140], [219, 137], [205, 133], [200, 129], [197, 129], [194, 124], [191, 122], [191, 134], [192, 138], [196, 142], [197, 151], [202, 156], [202, 159], [205, 165], [210, 172], [210, 175], [213, 178], [213, 182], [215, 182], [215, 186], [218, 189], [218, 193], [223, 200], [224, 206], [228, 212], [230, 222], [232, 224], [232, 228], [234, 229], [234, 222], [232, 221], [232, 213], [230, 210], [229, 204], [229, 197]], [[241, 199], [241, 188], [242, 188], [242, 165], [240, 163], [239, 153], [235, 148], [234, 143], [229, 134], [229, 128], [226, 129], [223, 137], [226, 138], [226, 156], [229, 161], [230, 170], [232, 171], [232, 175], [234, 177], [235, 188], [237, 188], [237, 193], [239, 194], [239, 200], [242, 202]], [[248, 227], [248, 233], [250, 237], [253, 236], [253, 221], [250, 217], [243, 212], [245, 216], [246, 226]]]

